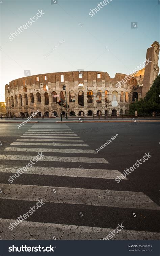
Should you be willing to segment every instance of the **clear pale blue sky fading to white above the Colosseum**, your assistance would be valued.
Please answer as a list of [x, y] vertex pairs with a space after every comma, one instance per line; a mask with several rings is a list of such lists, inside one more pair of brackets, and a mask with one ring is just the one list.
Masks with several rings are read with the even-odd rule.
[[101, 8], [98, 0], [52, 1], [0, 0], [0, 101], [5, 85], [24, 77], [24, 70], [83, 69], [114, 78], [143, 64], [147, 48], [160, 42], [160, 0], [101, 0]]

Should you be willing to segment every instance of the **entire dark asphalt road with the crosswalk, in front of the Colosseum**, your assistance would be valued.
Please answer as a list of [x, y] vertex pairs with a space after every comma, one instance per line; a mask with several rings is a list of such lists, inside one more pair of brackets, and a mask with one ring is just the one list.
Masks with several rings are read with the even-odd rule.
[[[103, 239], [122, 223], [113, 239], [158, 239], [159, 123], [17, 125], [0, 123], [2, 239]], [[41, 151], [45, 158], [10, 184], [9, 176]], [[117, 183], [116, 175], [145, 153], [150, 158]], [[45, 204], [10, 231], [38, 199]]]

